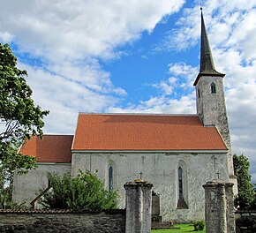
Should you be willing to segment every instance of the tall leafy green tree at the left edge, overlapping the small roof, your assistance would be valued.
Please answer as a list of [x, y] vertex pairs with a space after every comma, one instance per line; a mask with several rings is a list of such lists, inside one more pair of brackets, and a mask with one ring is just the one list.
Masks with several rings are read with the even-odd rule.
[[32, 90], [26, 84], [27, 73], [16, 66], [17, 58], [9, 45], [0, 43], [0, 172], [4, 179], [0, 192], [10, 184], [9, 195], [14, 170], [25, 173], [35, 168], [35, 159], [18, 154], [18, 148], [34, 135], [42, 137], [42, 119], [49, 114], [34, 105]]

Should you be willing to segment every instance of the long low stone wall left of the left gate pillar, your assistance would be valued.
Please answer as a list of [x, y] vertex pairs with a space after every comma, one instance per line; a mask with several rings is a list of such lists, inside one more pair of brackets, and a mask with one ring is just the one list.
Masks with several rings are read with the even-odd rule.
[[72, 211], [0, 211], [0, 232], [112, 232], [125, 231], [124, 210], [99, 213]]

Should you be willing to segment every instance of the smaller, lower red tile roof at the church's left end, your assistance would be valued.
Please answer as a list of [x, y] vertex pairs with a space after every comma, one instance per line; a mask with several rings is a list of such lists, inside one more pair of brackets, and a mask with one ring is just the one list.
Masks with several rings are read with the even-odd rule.
[[26, 141], [19, 152], [37, 158], [37, 162], [71, 162], [72, 135], [35, 136]]

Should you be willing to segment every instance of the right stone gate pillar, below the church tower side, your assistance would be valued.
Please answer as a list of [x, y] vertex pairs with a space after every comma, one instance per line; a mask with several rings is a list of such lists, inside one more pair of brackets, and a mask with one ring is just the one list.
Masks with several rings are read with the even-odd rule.
[[235, 233], [233, 185], [222, 180], [203, 185], [207, 233]]

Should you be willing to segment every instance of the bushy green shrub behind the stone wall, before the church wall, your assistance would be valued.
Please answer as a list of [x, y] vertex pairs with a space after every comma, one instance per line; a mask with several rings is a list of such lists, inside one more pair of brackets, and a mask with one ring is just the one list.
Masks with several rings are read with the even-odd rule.
[[49, 184], [52, 191], [44, 194], [43, 207], [79, 211], [117, 208], [117, 192], [108, 192], [96, 172], [79, 170], [76, 177], [49, 173]]

